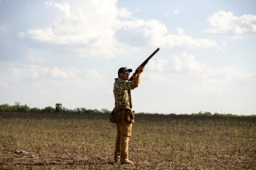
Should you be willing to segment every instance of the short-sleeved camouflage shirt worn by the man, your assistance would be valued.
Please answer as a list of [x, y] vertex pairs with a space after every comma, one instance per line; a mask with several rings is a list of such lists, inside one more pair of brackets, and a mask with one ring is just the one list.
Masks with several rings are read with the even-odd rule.
[[114, 83], [114, 97], [116, 106], [129, 106], [132, 108], [131, 90], [134, 89], [134, 81], [116, 78]]

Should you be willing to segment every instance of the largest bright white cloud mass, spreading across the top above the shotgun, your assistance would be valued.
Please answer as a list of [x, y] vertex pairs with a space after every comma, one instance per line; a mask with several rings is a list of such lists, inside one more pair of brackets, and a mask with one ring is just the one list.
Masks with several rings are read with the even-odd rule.
[[[27, 31], [33, 40], [65, 46], [79, 57], [111, 58], [125, 54], [133, 47], [219, 48], [215, 41], [167, 34], [167, 28], [157, 20], [132, 18], [126, 8], [118, 8], [116, 0], [87, 0], [77, 3], [45, 2], [55, 11], [54, 22], [44, 28]], [[57, 11], [56, 11], [57, 9]], [[64, 15], [57, 15], [59, 12]], [[178, 10], [175, 10], [178, 13]], [[121, 20], [125, 18], [126, 20]], [[81, 48], [82, 46], [82, 48]]]

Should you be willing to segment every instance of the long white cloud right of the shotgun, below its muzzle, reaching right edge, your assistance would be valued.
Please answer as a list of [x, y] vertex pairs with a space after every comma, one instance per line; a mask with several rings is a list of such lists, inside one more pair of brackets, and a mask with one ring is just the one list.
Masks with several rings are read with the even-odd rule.
[[[192, 54], [183, 52], [172, 55], [169, 59], [150, 60], [149, 70], [183, 74], [199, 79], [206, 84], [223, 84], [225, 82], [256, 82], [256, 73], [247, 73], [232, 67], [212, 68], [207, 63], [196, 61]], [[160, 73], [159, 73], [160, 75]]]

